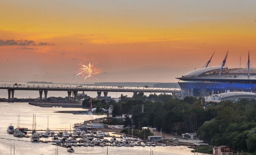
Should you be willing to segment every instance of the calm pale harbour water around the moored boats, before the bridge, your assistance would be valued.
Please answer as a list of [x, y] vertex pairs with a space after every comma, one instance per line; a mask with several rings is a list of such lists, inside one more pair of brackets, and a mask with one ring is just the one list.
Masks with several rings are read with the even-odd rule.
[[[81, 110], [81, 108], [75, 108]], [[32, 128], [33, 113], [36, 114], [36, 129], [47, 128], [47, 116], [49, 116], [49, 128], [58, 130], [68, 130], [70, 124], [76, 122], [83, 122], [84, 120], [94, 119], [96, 117], [103, 117], [101, 115], [73, 115], [69, 113], [53, 113], [54, 111], [74, 110], [74, 108], [42, 108], [32, 106], [28, 103], [7, 103], [0, 102], [0, 155], [11, 153], [11, 145], [13, 152], [13, 145], [15, 143], [15, 154], [18, 155], [54, 155], [56, 146], [51, 143], [30, 142], [30, 138], [18, 138], [12, 134], [8, 134], [6, 129], [9, 124], [14, 127], [18, 124], [18, 115], [20, 113], [20, 127]], [[40, 138], [45, 140], [47, 138]], [[50, 139], [50, 138], [48, 138]], [[99, 155], [107, 154], [107, 147], [74, 147], [75, 153], [73, 154], [90, 154]], [[191, 154], [191, 149], [184, 146], [177, 147], [153, 147], [154, 154], [161, 155], [182, 155]], [[69, 154], [67, 148], [58, 147], [58, 153]], [[150, 147], [108, 147], [108, 154], [120, 155], [148, 155], [150, 154]]]

